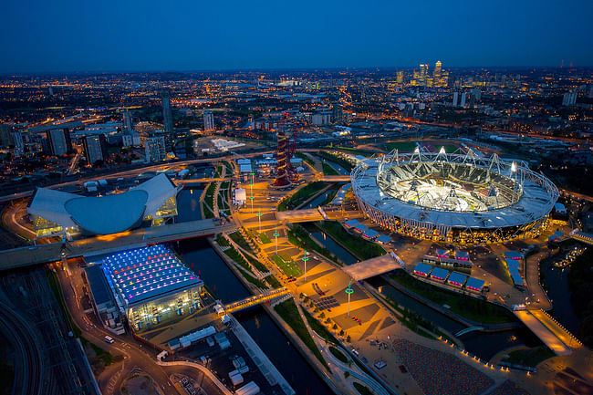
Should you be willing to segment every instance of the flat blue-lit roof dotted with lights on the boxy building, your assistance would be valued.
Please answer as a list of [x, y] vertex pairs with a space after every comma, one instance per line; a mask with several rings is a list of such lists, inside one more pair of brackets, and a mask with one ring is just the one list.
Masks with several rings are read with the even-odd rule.
[[197, 275], [162, 245], [109, 255], [102, 264], [109, 285], [128, 307], [202, 284]]

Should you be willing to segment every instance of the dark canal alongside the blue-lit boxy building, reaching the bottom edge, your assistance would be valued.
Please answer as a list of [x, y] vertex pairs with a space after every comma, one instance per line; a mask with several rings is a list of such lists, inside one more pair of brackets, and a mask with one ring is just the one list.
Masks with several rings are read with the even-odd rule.
[[[236, 278], [205, 238], [183, 240], [178, 252], [186, 265], [201, 276], [215, 296], [224, 303], [249, 296], [243, 283]], [[290, 344], [284, 333], [267, 315], [263, 307], [253, 307], [234, 315], [255, 342], [274, 363], [297, 394], [325, 395], [331, 393], [326, 383]]]

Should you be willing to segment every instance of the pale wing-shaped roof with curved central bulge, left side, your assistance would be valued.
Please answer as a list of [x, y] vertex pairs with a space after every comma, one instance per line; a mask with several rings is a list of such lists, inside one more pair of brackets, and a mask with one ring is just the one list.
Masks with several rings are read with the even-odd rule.
[[37, 188], [27, 212], [63, 228], [116, 234], [138, 226], [148, 215], [155, 216], [159, 207], [176, 194], [177, 188], [165, 174], [127, 192], [100, 197]]

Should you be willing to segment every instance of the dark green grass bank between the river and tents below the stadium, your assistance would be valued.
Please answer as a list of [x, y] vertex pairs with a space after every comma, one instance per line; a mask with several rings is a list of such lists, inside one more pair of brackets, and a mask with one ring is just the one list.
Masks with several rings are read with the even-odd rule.
[[462, 317], [484, 324], [502, 324], [515, 321], [515, 316], [504, 307], [498, 307], [485, 300], [472, 296], [463, 296], [447, 289], [432, 286], [415, 279], [403, 269], [396, 270], [390, 277], [417, 293], [439, 305], [449, 305], [451, 311]]

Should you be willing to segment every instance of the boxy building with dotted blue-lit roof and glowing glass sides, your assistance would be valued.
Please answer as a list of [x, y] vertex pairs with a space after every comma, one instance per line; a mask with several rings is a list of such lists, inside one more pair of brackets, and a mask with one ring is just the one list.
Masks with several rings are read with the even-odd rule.
[[136, 330], [202, 307], [203, 281], [163, 245], [109, 255], [101, 263], [120, 309]]

